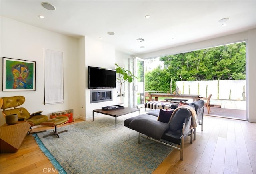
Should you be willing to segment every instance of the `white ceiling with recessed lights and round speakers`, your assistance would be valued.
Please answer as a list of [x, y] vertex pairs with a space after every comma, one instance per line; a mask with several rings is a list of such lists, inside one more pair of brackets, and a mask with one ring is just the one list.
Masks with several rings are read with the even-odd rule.
[[[42, 2], [56, 10], [46, 10]], [[1, 0], [0, 5], [1, 16], [75, 38], [101, 37], [131, 55], [256, 28], [256, 0]], [[227, 17], [227, 26], [220, 26], [218, 21]]]

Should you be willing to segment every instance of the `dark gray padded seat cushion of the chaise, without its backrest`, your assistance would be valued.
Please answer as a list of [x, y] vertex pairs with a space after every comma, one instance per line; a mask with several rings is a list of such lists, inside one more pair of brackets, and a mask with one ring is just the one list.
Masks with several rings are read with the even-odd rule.
[[156, 140], [160, 140], [164, 132], [169, 129], [168, 123], [157, 121], [157, 117], [153, 115], [142, 114], [136, 116], [136, 118], [132, 118], [134, 119], [129, 124], [130, 129], [148, 135]]

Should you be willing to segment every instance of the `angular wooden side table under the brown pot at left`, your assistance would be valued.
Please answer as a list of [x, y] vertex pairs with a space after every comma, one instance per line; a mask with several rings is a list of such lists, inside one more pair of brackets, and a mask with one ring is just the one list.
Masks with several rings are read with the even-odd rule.
[[14, 125], [1, 126], [1, 153], [15, 153], [20, 148], [24, 138], [28, 134], [30, 124], [26, 121], [18, 121]]

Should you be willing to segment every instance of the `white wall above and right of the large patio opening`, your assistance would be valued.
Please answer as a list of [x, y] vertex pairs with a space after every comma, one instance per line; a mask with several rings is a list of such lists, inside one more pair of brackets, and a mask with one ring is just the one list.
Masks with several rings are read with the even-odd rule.
[[247, 41], [247, 55], [246, 55], [246, 117], [249, 122], [256, 122], [256, 29], [248, 30], [246, 32], [240, 32], [237, 34], [231, 34], [205, 40], [201, 42], [190, 43], [187, 45], [181, 45], [178, 47], [172, 47], [169, 49], [163, 49], [154, 51], [152, 53], [146, 53], [137, 55], [142, 59], [160, 57], [170, 54], [184, 53], [208, 47], [214, 47], [219, 45], [225, 45], [234, 42]]

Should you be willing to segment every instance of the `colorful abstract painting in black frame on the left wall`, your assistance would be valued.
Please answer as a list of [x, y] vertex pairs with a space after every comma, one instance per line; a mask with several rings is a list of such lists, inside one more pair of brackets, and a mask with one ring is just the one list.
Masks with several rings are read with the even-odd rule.
[[36, 62], [3, 57], [3, 91], [35, 91]]

